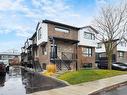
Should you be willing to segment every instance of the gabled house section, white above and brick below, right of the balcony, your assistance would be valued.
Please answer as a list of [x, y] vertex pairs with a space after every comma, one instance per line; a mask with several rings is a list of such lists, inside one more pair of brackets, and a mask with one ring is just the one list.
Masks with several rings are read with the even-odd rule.
[[95, 67], [95, 47], [97, 46], [95, 36], [97, 33], [91, 26], [83, 27], [78, 31], [78, 59], [81, 67]]

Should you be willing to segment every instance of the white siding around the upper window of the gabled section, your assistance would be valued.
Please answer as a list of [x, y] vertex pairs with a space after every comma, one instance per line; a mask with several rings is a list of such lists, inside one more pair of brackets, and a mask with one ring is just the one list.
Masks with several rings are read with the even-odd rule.
[[90, 46], [90, 47], [96, 47], [97, 46], [97, 42], [96, 40], [91, 40], [91, 39], [85, 39], [84, 37], [84, 32], [88, 32], [88, 33], [93, 33], [96, 35], [96, 33], [93, 31], [89, 31], [88, 29], [84, 28], [84, 29], [80, 29], [78, 31], [78, 40], [79, 45], [84, 45], [84, 46]]

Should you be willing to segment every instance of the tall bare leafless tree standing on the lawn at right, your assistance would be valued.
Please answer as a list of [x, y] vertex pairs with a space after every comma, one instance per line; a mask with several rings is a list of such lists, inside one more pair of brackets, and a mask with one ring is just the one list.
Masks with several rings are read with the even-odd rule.
[[127, 30], [127, 3], [102, 7], [100, 15], [95, 18], [93, 27], [99, 33], [96, 37], [97, 40], [105, 46], [108, 69], [112, 69], [113, 51]]

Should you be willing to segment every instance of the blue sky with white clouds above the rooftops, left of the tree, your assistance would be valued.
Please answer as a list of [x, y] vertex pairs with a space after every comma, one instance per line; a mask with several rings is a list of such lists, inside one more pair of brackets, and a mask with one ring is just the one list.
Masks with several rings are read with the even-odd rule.
[[20, 48], [49, 19], [74, 26], [90, 25], [99, 8], [119, 0], [0, 0], [0, 52]]

